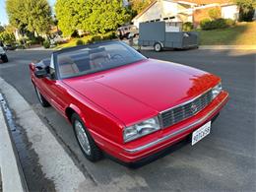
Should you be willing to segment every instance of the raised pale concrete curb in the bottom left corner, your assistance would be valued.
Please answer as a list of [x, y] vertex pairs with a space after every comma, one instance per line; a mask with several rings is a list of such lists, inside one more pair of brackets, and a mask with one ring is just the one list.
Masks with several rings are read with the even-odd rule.
[[27, 182], [3, 113], [3, 100], [4, 98], [0, 94], [0, 167], [2, 190], [3, 192], [27, 192], [29, 191]]

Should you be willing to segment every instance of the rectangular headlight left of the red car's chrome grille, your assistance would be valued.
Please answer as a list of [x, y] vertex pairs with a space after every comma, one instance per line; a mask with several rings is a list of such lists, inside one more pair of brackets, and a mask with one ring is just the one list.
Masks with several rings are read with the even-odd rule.
[[141, 123], [126, 127], [123, 132], [124, 142], [129, 142], [160, 130], [160, 121], [158, 116], [150, 118]]

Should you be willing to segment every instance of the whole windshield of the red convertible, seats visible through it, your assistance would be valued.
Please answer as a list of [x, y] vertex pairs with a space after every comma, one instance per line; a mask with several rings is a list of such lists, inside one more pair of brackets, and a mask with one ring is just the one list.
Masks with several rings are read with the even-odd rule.
[[56, 54], [61, 79], [116, 68], [146, 59], [123, 42], [111, 41], [61, 50]]

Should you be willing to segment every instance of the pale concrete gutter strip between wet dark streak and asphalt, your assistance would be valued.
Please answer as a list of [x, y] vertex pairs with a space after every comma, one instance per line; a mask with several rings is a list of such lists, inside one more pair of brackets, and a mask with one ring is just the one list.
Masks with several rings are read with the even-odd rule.
[[54, 182], [55, 190], [79, 192], [86, 188], [87, 191], [99, 191], [95, 181], [76, 166], [25, 98], [1, 77], [0, 88], [8, 99], [9, 107], [15, 111], [17, 123], [26, 131], [44, 177]]

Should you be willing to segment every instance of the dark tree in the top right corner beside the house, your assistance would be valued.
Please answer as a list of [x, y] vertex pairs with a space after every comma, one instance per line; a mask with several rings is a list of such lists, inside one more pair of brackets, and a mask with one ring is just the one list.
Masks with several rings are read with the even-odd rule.
[[251, 22], [256, 9], [256, 0], [234, 0], [239, 6], [239, 21]]

